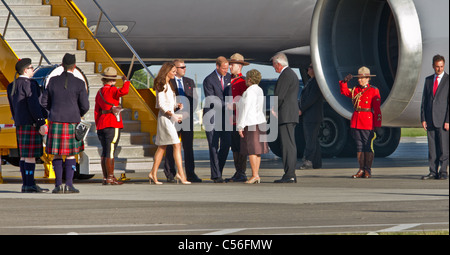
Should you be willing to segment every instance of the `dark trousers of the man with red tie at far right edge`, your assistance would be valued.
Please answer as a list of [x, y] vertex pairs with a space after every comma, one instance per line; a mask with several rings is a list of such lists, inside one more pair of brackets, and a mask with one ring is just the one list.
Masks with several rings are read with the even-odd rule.
[[[448, 175], [449, 131], [443, 128], [428, 127], [428, 161], [430, 174], [434, 176]], [[439, 169], [439, 166], [441, 167]], [[438, 175], [439, 174], [439, 175]]]

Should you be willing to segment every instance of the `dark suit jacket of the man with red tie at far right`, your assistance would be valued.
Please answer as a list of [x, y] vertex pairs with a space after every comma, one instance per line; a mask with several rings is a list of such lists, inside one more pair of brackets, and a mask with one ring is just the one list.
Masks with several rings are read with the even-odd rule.
[[429, 127], [443, 128], [444, 123], [449, 123], [448, 74], [444, 73], [435, 96], [433, 83], [434, 74], [425, 78], [420, 119], [426, 121]]

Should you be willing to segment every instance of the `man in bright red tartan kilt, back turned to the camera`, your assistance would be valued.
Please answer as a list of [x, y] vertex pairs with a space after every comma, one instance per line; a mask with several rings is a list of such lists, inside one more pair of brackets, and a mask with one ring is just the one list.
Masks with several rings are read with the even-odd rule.
[[[52, 163], [56, 179], [52, 193], [79, 193], [79, 190], [73, 187], [73, 175], [77, 163], [75, 155], [84, 150], [84, 143], [75, 138], [75, 127], [81, 121], [81, 116], [89, 110], [89, 100], [84, 82], [73, 75], [75, 62], [75, 55], [64, 55], [64, 72], [50, 79], [42, 96], [42, 106], [49, 110], [45, 151], [54, 155]], [[64, 188], [62, 156], [66, 156]]]

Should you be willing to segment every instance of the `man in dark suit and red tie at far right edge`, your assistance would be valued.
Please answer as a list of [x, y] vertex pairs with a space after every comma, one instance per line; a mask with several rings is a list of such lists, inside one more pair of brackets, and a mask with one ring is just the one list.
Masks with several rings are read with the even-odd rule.
[[425, 79], [423, 88], [421, 121], [427, 130], [430, 164], [430, 173], [423, 176], [423, 180], [448, 178], [449, 91], [448, 74], [444, 72], [444, 66], [443, 56], [433, 57], [434, 74]]

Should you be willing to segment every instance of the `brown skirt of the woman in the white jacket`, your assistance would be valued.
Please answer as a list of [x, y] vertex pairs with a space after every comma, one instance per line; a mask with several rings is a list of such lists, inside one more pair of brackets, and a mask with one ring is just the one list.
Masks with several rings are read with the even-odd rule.
[[245, 127], [244, 138], [241, 138], [241, 154], [244, 155], [261, 155], [269, 153], [269, 145], [266, 141], [261, 141], [266, 138], [261, 137], [266, 134], [265, 124]]

